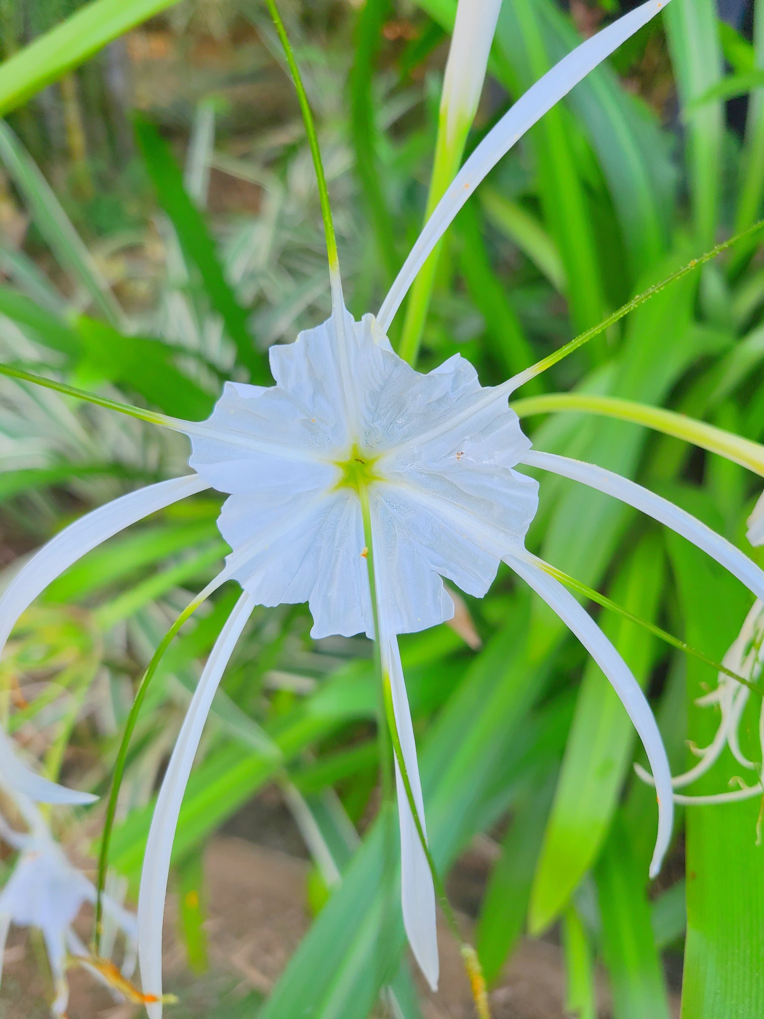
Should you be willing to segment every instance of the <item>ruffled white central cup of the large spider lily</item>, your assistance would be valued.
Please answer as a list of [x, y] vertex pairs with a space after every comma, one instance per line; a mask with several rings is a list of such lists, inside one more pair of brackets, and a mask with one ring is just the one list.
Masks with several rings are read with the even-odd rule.
[[[314, 637], [372, 636], [360, 503], [338, 487], [337, 465], [363, 450], [381, 479], [370, 498], [389, 565], [382, 609], [391, 632], [423, 630], [453, 614], [441, 577], [482, 595], [502, 551], [522, 545], [538, 486], [512, 468], [530, 443], [506, 397], [491, 399], [462, 358], [423, 375], [373, 316], [356, 323], [345, 312], [343, 323], [342, 343], [332, 318], [272, 348], [275, 387], [229, 383], [210, 419], [216, 437], [193, 437], [189, 463], [230, 493], [218, 526], [233, 549], [229, 566], [240, 560], [231, 575], [259, 604], [308, 601]], [[244, 435], [269, 437], [284, 455], [248, 449]], [[456, 525], [441, 502], [459, 509]], [[474, 537], [480, 521], [501, 530], [499, 546]]]

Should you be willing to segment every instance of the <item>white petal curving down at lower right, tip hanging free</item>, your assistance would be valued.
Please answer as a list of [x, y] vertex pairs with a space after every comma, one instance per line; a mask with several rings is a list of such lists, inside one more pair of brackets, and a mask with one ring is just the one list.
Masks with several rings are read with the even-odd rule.
[[673, 790], [671, 788], [671, 769], [668, 765], [663, 740], [647, 698], [637, 680], [632, 676], [626, 663], [591, 615], [566, 588], [536, 565], [540, 561], [539, 559], [528, 552], [523, 557], [507, 555], [504, 561], [546, 601], [565, 626], [576, 634], [607, 677], [642, 740], [655, 779], [658, 798], [658, 837], [650, 863], [650, 876], [654, 877], [660, 870], [671, 840]]

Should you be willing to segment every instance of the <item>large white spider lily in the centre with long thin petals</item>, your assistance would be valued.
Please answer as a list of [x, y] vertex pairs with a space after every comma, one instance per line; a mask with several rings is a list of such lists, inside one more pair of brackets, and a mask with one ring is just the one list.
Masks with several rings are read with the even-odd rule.
[[[390, 347], [387, 327], [417, 272], [475, 186], [517, 139], [621, 42], [663, 6], [648, 0], [583, 43], [544, 75], [486, 137], [436, 207], [375, 319], [356, 322], [341, 301], [332, 264], [332, 317], [288, 346], [271, 351], [276, 385], [228, 383], [208, 422], [163, 419], [192, 440], [197, 472], [115, 500], [49, 543], [0, 599], [7, 635], [17, 614], [61, 570], [122, 527], [185, 495], [228, 494], [219, 526], [232, 552], [208, 591], [235, 578], [243, 588], [213, 648], [160, 791], [147, 845], [139, 903], [145, 989], [161, 996], [163, 903], [183, 790], [207, 712], [256, 604], [308, 601], [314, 636], [366, 632], [380, 643], [413, 799], [424, 829], [397, 635], [448, 619], [442, 579], [482, 595], [506, 561], [587, 647], [620, 696], [645, 745], [659, 803], [654, 875], [671, 834], [671, 776], [649, 704], [615, 649], [524, 537], [536, 509], [528, 464], [629, 502], [685, 535], [764, 599], [764, 574], [690, 515], [594, 465], [531, 451], [507, 396], [522, 376], [482, 388], [472, 367], [451, 358], [429, 374]], [[159, 418], [157, 418], [159, 420]], [[375, 568], [372, 611], [366, 523]], [[3, 613], [7, 613], [7, 616]], [[396, 762], [397, 764], [397, 762]], [[402, 910], [416, 958], [438, 979], [435, 900], [407, 798], [401, 794]], [[161, 1004], [151, 1004], [152, 1019]]]

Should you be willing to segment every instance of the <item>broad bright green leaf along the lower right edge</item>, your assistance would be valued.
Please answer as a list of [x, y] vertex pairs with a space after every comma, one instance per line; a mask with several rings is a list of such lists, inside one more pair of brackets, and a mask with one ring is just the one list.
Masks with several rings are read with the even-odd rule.
[[[703, 493], [684, 490], [685, 508], [710, 526], [719, 520]], [[674, 493], [674, 500], [681, 497]], [[723, 655], [738, 636], [751, 598], [715, 562], [673, 534], [666, 544], [676, 576], [688, 642], [702, 641], [715, 657]], [[712, 669], [688, 661], [689, 737], [707, 746], [718, 715], [696, 703], [716, 686]], [[755, 705], [758, 715], [760, 703]], [[754, 718], [754, 730], [758, 719]], [[745, 736], [745, 733], [744, 733]], [[745, 743], [744, 753], [751, 751]], [[758, 746], [756, 752], [760, 753]], [[758, 760], [758, 757], [756, 758]], [[697, 758], [692, 758], [693, 762]], [[688, 795], [724, 793], [741, 765], [728, 751]], [[761, 930], [764, 927], [764, 847], [757, 846], [759, 798], [742, 803], [688, 806], [687, 940], [681, 999], [683, 1019], [730, 1019], [764, 1014], [764, 971]]]

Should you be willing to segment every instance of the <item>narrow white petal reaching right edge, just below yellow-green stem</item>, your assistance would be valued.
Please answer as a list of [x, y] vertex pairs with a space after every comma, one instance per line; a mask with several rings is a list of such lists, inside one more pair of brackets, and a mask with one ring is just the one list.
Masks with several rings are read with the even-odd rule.
[[557, 453], [532, 449], [525, 454], [523, 463], [529, 467], [539, 467], [544, 471], [580, 481], [582, 484], [589, 485], [590, 488], [597, 488], [607, 495], [620, 499], [621, 502], [626, 502], [635, 509], [640, 509], [648, 517], [652, 517], [653, 520], [665, 524], [666, 527], [707, 552], [711, 558], [716, 559], [720, 566], [745, 584], [757, 598], [764, 600], [764, 572], [726, 538], [722, 538], [710, 527], [696, 520], [692, 514], [680, 509], [668, 499], [664, 499], [662, 496], [656, 495], [655, 492], [651, 492], [650, 489], [638, 485], [636, 481], [622, 478], [619, 474], [607, 471], [603, 467], [586, 464], [580, 460], [571, 460], [568, 457], [560, 457]]

